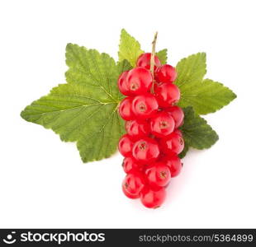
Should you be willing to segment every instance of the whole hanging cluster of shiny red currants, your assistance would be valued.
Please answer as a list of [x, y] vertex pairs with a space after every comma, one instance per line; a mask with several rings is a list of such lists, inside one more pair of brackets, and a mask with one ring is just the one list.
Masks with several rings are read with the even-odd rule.
[[[154, 77], [150, 72], [150, 53], [141, 54], [136, 67], [123, 72], [118, 87], [126, 96], [119, 113], [126, 120], [126, 134], [119, 141], [125, 157], [122, 183], [128, 198], [140, 198], [145, 207], [159, 207], [165, 188], [179, 174], [183, 151], [183, 110], [175, 105], [180, 98], [173, 84], [177, 73], [171, 65], [161, 65], [154, 56]], [[153, 87], [153, 88], [152, 88]]]

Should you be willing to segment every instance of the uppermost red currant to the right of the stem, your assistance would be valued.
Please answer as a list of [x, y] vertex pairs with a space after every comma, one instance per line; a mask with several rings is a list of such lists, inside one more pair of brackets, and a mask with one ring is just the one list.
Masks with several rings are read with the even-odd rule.
[[173, 66], [164, 64], [156, 69], [155, 77], [157, 82], [172, 83], [177, 77], [177, 72]]

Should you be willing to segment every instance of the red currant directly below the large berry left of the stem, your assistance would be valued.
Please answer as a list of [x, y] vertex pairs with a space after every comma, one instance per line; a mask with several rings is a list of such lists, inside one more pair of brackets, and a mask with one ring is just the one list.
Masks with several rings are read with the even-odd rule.
[[159, 104], [152, 94], [146, 93], [145, 95], [135, 96], [131, 107], [135, 117], [138, 119], [149, 119], [158, 111]]

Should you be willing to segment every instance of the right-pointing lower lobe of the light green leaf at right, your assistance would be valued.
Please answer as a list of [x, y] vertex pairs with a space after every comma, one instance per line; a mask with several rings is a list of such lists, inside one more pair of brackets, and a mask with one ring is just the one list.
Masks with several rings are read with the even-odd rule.
[[191, 105], [197, 114], [209, 114], [220, 110], [236, 95], [220, 82], [205, 79], [202, 82], [190, 82], [180, 86], [181, 100], [178, 105], [186, 107]]

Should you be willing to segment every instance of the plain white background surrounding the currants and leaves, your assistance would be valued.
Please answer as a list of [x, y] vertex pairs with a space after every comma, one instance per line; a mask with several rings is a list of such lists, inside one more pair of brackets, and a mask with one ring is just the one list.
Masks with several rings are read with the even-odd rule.
[[[1, 1], [1, 227], [256, 227], [255, 1]], [[64, 82], [69, 42], [117, 58], [121, 28], [168, 62], [207, 54], [207, 77], [238, 98], [206, 119], [220, 135], [190, 151], [156, 210], [121, 192], [121, 156], [83, 164], [74, 143], [21, 119]]]

